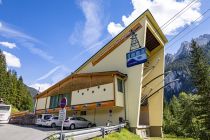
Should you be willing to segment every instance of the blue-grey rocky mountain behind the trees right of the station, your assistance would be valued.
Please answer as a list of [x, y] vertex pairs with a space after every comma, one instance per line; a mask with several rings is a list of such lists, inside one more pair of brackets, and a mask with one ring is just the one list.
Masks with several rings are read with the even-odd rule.
[[[210, 62], [210, 34], [200, 35], [194, 39], [204, 50]], [[170, 100], [173, 95], [180, 92], [193, 93], [195, 87], [191, 81], [189, 72], [190, 42], [185, 41], [181, 44], [177, 53], [165, 55], [165, 72], [171, 71], [165, 76], [165, 83], [179, 79], [165, 87], [165, 97]]]

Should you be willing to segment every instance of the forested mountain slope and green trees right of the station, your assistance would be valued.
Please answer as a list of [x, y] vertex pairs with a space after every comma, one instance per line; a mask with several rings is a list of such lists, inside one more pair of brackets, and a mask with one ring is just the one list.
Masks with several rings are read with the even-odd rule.
[[[193, 40], [185, 55], [173, 60], [168, 70], [179, 78], [173, 86], [179, 91], [177, 96], [164, 104], [164, 132], [176, 136], [210, 140], [210, 43], [201, 45]], [[186, 50], [186, 48], [185, 48]], [[182, 56], [182, 57], [181, 57]], [[179, 87], [176, 87], [179, 85]], [[193, 94], [190, 93], [193, 92]]]

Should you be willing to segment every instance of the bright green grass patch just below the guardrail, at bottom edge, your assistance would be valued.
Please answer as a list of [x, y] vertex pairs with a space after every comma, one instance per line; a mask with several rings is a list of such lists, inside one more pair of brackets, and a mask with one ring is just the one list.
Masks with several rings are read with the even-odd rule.
[[138, 135], [135, 135], [127, 129], [122, 129], [121, 132], [113, 132], [106, 135], [105, 138], [95, 138], [93, 140], [142, 140]]

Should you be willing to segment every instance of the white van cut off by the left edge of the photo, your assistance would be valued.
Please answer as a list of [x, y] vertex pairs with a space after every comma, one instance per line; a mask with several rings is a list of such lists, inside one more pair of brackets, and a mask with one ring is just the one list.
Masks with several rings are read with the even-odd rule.
[[0, 103], [0, 123], [8, 123], [11, 115], [11, 105]]

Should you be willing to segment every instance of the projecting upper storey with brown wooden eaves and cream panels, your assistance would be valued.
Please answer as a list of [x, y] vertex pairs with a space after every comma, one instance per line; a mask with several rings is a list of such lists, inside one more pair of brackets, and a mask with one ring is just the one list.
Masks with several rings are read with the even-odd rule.
[[[37, 95], [36, 110], [57, 112], [64, 95], [69, 97], [67, 110], [122, 107], [124, 94], [117, 90], [117, 78], [125, 80], [126, 77], [116, 71], [73, 74]], [[57, 105], [52, 107], [53, 96], [58, 98]]]

